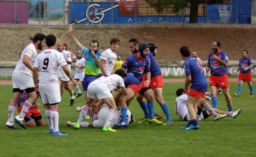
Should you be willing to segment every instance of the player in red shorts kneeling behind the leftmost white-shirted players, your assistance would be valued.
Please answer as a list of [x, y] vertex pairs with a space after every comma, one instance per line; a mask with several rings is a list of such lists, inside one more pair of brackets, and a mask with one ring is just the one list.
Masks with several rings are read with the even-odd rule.
[[[37, 98], [39, 97], [39, 93], [37, 93]], [[17, 110], [20, 113], [21, 109], [23, 107], [24, 102], [28, 99], [28, 94], [26, 91], [23, 91], [21, 98], [19, 99], [17, 103]], [[39, 111], [41, 103], [36, 103], [35, 102], [31, 105], [29, 108], [28, 112], [26, 113], [24, 120], [25, 120], [25, 125], [27, 127], [34, 127], [34, 126], [45, 126], [45, 120], [44, 117], [42, 116], [42, 113]]]

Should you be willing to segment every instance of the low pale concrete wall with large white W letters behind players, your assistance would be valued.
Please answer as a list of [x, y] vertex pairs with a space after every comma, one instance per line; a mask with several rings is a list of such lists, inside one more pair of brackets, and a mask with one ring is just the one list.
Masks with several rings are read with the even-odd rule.
[[[162, 71], [163, 76], [184, 76], [183, 63], [184, 61], [175, 60], [157, 60], [157, 63]], [[206, 72], [207, 61], [202, 61], [203, 69]], [[256, 61], [253, 61], [256, 64]], [[11, 77], [17, 62], [0, 62], [0, 77]], [[230, 61], [228, 64], [229, 75], [235, 75], [239, 61]], [[75, 64], [73, 63], [71, 67]], [[75, 71], [71, 68], [72, 76], [75, 76]], [[206, 74], [210, 76], [210, 73]], [[256, 75], [256, 66], [252, 68], [252, 75]]]

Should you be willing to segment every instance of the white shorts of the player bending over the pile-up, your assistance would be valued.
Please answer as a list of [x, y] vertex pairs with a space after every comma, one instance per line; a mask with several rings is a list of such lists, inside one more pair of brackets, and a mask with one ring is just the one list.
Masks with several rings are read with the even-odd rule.
[[96, 96], [98, 99], [113, 97], [108, 87], [101, 84], [89, 84], [87, 89], [87, 97], [95, 99]]

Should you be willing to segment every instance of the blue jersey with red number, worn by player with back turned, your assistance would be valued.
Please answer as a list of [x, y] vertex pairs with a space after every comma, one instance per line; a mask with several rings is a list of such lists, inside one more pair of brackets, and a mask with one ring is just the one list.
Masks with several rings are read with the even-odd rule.
[[191, 75], [191, 89], [200, 92], [207, 91], [207, 80], [204, 76], [203, 66], [201, 63], [192, 56], [186, 58], [183, 63], [183, 68], [186, 76]]

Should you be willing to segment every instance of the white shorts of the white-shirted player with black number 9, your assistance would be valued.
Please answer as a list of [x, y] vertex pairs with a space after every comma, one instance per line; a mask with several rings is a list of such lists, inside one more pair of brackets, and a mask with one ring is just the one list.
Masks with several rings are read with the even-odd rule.
[[54, 84], [51, 86], [39, 86], [39, 92], [43, 104], [55, 104], [61, 102], [61, 92], [59, 84]]

